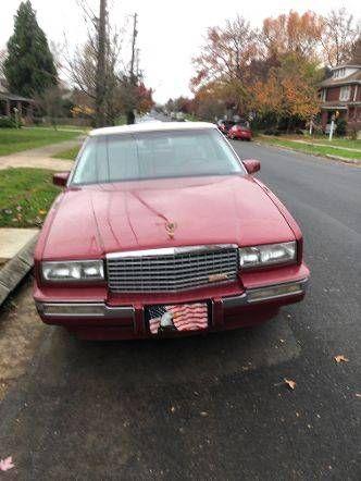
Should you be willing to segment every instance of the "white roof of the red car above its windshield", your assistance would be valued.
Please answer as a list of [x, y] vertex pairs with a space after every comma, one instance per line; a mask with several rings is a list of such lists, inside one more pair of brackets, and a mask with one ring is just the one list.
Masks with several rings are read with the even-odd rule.
[[115, 127], [96, 128], [89, 132], [91, 137], [112, 134], [136, 134], [140, 132], [167, 132], [167, 131], [196, 131], [216, 128], [209, 122], [144, 122], [132, 125], [117, 125]]

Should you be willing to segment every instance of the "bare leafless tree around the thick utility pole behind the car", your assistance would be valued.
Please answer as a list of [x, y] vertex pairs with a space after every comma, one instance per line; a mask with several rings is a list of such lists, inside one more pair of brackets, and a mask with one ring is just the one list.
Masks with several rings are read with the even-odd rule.
[[[113, 124], [121, 113], [134, 123], [134, 111], [145, 112], [152, 106], [152, 90], [142, 83], [137, 48], [137, 14], [133, 15], [129, 62], [121, 59], [120, 30], [109, 22], [107, 0], [100, 0], [99, 15], [79, 0], [88, 26], [88, 38], [73, 55], [67, 50], [64, 62], [82, 112], [90, 113], [96, 126]], [[124, 32], [123, 32], [124, 34]], [[124, 36], [124, 35], [123, 35]], [[71, 59], [71, 60], [69, 60]]]

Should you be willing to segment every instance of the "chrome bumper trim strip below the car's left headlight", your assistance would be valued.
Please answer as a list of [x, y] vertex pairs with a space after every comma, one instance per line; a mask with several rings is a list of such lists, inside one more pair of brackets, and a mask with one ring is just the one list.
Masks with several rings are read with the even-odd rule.
[[[132, 306], [110, 307], [104, 303], [39, 303], [36, 301], [38, 312], [46, 317], [66, 318], [99, 318], [99, 319], [134, 319], [135, 309]], [[59, 308], [59, 312], [47, 312], [47, 308]], [[61, 312], [61, 309], [72, 309], [71, 312]], [[88, 312], [85, 312], [89, 309]], [[95, 311], [91, 312], [91, 309]]]

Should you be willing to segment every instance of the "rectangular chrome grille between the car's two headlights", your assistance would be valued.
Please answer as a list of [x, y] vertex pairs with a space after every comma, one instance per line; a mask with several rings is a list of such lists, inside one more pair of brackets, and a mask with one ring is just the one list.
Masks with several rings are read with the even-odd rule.
[[107, 270], [112, 292], [186, 291], [236, 281], [238, 248], [212, 245], [109, 254]]

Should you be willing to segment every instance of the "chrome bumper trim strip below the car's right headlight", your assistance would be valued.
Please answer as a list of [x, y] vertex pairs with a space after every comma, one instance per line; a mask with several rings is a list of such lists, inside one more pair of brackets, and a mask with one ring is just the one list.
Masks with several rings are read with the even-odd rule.
[[[251, 289], [246, 289], [246, 292], [244, 294], [241, 294], [240, 296], [223, 297], [222, 298], [223, 307], [232, 309], [232, 308], [239, 307], [239, 306], [247, 306], [250, 304], [263, 303], [264, 300], [276, 300], [276, 299], [283, 299], [286, 297], [298, 296], [300, 294], [306, 293], [306, 288], [307, 288], [308, 283], [309, 283], [309, 279], [302, 279], [300, 281], [283, 282], [279, 284], [264, 285], [264, 286], [254, 287]], [[250, 295], [253, 293], [258, 293], [258, 292], [266, 291], [266, 289], [272, 289], [272, 288], [276, 288], [276, 287], [289, 287], [294, 284], [299, 284], [300, 288], [298, 291], [294, 291], [290, 293], [282, 293], [282, 294], [269, 295], [269, 296], [265, 295], [264, 297], [260, 297], [257, 299], [250, 298]]]

